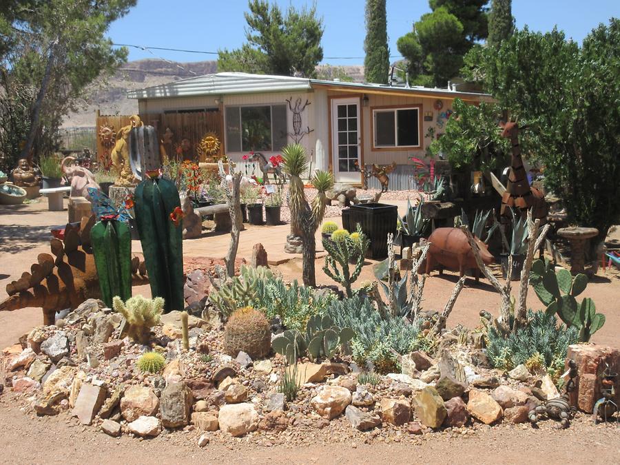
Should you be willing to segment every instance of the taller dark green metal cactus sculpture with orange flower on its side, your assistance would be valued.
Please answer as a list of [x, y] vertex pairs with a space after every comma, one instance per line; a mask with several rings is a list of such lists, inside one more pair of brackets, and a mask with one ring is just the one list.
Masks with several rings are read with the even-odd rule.
[[176, 186], [146, 176], [136, 187], [135, 202], [152, 296], [165, 300], [165, 313], [183, 310], [183, 210]]

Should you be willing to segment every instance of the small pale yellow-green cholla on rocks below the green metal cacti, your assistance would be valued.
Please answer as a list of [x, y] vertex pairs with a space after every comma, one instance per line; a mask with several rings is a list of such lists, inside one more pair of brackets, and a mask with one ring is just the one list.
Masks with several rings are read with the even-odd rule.
[[148, 344], [151, 328], [159, 324], [164, 300], [161, 297], [145, 299], [143, 296], [135, 296], [123, 303], [121, 298], [114, 297], [112, 307], [127, 320], [129, 324], [127, 334], [130, 338], [138, 344]]

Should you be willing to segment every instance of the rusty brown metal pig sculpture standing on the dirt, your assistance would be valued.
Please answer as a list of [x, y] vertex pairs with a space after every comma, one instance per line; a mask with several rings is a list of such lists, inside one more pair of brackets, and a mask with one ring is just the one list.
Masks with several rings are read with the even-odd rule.
[[[474, 238], [480, 249], [480, 257], [485, 265], [493, 263], [493, 256], [489, 254], [487, 245]], [[475, 269], [475, 278], [479, 279], [480, 270], [476, 263], [473, 250], [469, 245], [466, 234], [456, 227], [439, 227], [428, 237], [431, 247], [426, 254], [426, 274], [431, 272], [435, 265], [440, 265], [440, 274], [443, 269], [458, 271], [464, 276], [466, 269]]]

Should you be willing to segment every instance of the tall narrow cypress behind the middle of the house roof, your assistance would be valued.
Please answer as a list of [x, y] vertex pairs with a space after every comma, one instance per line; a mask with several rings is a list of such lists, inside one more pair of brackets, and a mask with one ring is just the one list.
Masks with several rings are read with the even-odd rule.
[[366, 39], [364, 40], [364, 79], [387, 84], [390, 50], [387, 45], [385, 0], [366, 0]]

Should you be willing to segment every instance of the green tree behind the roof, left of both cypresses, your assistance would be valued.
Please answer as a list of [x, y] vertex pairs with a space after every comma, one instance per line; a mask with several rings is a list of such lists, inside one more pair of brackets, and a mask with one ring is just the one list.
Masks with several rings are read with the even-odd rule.
[[250, 0], [248, 6], [247, 43], [236, 50], [219, 50], [218, 71], [316, 76], [316, 65], [323, 59], [323, 22], [316, 17], [316, 6], [289, 6], [286, 15], [264, 0]]

